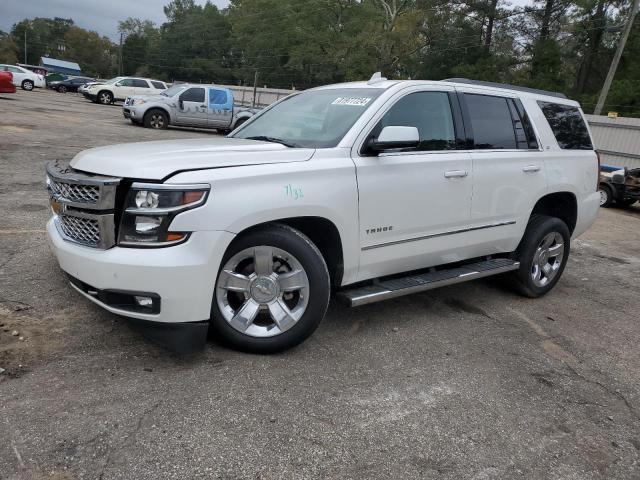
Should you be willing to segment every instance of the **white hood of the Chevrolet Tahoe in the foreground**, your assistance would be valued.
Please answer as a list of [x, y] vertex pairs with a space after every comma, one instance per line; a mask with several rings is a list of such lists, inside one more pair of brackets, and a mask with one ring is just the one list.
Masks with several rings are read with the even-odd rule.
[[85, 150], [71, 160], [83, 172], [144, 180], [162, 180], [181, 170], [304, 162], [314, 149], [279, 143], [213, 137], [126, 143]]

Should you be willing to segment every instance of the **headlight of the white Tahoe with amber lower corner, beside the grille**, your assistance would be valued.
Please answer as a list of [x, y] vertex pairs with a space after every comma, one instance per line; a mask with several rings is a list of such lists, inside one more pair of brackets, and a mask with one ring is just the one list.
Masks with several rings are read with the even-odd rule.
[[176, 215], [203, 205], [210, 186], [134, 183], [125, 200], [118, 245], [168, 247], [189, 238], [190, 232], [170, 232]]

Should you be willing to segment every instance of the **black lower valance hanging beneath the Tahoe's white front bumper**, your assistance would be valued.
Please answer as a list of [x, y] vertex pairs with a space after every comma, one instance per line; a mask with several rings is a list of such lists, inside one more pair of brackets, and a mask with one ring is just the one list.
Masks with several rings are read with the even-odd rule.
[[146, 339], [175, 353], [195, 353], [207, 344], [209, 321], [165, 323], [127, 318], [131, 327]]

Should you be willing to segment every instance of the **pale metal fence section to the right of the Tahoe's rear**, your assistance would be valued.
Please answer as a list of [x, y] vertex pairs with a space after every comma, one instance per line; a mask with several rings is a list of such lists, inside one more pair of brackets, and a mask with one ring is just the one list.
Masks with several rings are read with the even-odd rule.
[[640, 168], [640, 118], [585, 116], [603, 165]]

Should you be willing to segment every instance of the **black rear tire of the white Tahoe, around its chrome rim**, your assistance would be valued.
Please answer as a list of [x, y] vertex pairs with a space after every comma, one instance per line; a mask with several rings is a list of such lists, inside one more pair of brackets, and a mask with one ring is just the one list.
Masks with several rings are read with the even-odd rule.
[[[534, 282], [536, 255], [541, 243], [548, 235], [556, 233], [562, 237], [563, 254], [558, 263], [554, 276], [543, 286]], [[515, 252], [515, 258], [520, 262], [520, 268], [511, 273], [515, 289], [525, 297], [537, 298], [548, 293], [560, 280], [567, 264], [571, 250], [571, 234], [566, 223], [556, 217], [547, 215], [532, 215], [520, 245]]]

